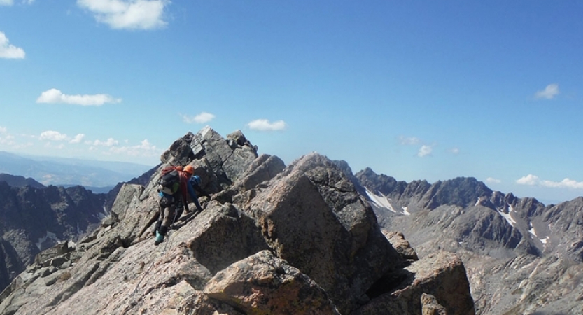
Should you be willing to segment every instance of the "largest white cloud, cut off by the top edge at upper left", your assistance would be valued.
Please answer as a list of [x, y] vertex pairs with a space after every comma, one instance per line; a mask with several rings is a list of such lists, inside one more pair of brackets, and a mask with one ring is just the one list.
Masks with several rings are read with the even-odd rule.
[[90, 10], [97, 22], [112, 29], [156, 29], [164, 27], [164, 6], [168, 0], [77, 0], [77, 5]]

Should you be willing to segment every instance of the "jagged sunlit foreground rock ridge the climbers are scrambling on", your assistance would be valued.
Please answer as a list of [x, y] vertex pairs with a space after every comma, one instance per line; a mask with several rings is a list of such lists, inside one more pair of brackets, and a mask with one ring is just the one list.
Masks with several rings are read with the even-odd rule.
[[[76, 248], [55, 248], [17, 276], [0, 315], [393, 314], [388, 305], [406, 315], [428, 309], [423, 293], [447, 314], [474, 314], [461, 260], [414, 260], [402, 238], [395, 250], [323, 155], [286, 167], [239, 131], [225, 139], [205, 127], [161, 160], [145, 186], [122, 186], [111, 216]], [[154, 183], [162, 167], [187, 164], [212, 197], [155, 246]]]

